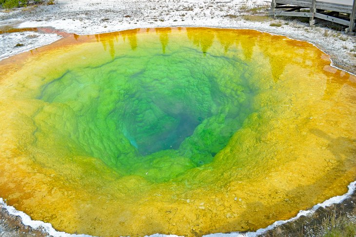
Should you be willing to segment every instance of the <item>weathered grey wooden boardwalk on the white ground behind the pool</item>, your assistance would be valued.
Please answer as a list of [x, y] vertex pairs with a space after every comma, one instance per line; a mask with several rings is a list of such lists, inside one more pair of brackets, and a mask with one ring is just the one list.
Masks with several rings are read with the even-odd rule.
[[310, 25], [324, 19], [348, 26], [345, 32], [356, 29], [356, 0], [272, 0], [271, 9], [273, 16], [308, 17]]

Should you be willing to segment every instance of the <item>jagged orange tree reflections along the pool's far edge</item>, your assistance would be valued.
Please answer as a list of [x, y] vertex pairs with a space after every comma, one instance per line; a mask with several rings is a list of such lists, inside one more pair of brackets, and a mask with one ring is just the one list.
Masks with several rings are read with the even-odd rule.
[[[269, 64], [271, 78], [275, 83], [280, 80], [289, 65], [303, 68], [303, 73], [308, 74], [310, 77], [315, 77], [316, 73], [322, 73], [328, 78], [325, 81], [324, 99], [333, 96], [344, 84], [355, 86], [355, 82], [352, 82], [350, 79], [354, 78], [354, 76], [331, 67], [329, 65], [329, 58], [324, 53], [319, 50], [305, 50], [308, 43], [257, 31], [167, 27], [98, 34], [95, 35], [95, 38], [98, 42], [102, 43], [104, 51], [108, 51], [111, 58], [114, 59], [116, 55], [115, 50], [118, 50], [118, 48], [115, 49], [115, 44], [120, 42], [120, 37], [122, 37], [121, 42], [128, 41], [132, 51], [136, 51], [140, 47], [140, 43], [141, 48], [145, 50], [148, 45], [146, 45], [145, 41], [140, 42], [137, 34], [156, 32], [162, 53], [167, 54], [167, 49], [170, 47], [170, 37], [176, 37], [172, 35], [174, 30], [178, 32], [179, 37], [181, 37], [180, 40], [187, 41], [187, 47], [197, 49], [203, 55], [236, 53], [238, 60], [251, 64], [259, 62], [264, 58], [263, 60], [266, 60]], [[76, 41], [79, 40], [79, 35], [74, 34], [73, 36]], [[277, 41], [278, 43], [276, 43]], [[213, 45], [215, 46], [213, 47]], [[267, 45], [268, 47], [266, 47]], [[289, 51], [286, 51], [285, 48], [289, 48]], [[212, 52], [212, 49], [214, 49], [214, 52]], [[323, 70], [315, 70], [316, 68], [323, 68]]]

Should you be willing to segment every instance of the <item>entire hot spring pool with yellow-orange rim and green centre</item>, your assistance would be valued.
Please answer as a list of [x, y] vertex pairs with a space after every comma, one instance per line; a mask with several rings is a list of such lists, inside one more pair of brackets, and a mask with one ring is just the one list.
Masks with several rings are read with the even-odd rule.
[[0, 64], [0, 197], [59, 231], [256, 230], [356, 178], [356, 77], [252, 30], [68, 36]]

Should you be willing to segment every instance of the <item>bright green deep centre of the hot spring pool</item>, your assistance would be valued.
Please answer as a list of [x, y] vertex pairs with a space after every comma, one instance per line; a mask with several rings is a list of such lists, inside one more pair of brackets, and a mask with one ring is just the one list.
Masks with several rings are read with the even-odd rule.
[[46, 136], [65, 139], [73, 154], [161, 182], [212, 162], [252, 112], [254, 91], [247, 65], [234, 57], [193, 45], [162, 50], [157, 39], [144, 46], [44, 85], [38, 99], [49, 105], [37, 116], [51, 108], [62, 114], [53, 119], [51, 109], [50, 119], [35, 120], [39, 128], [56, 121], [56, 134]]

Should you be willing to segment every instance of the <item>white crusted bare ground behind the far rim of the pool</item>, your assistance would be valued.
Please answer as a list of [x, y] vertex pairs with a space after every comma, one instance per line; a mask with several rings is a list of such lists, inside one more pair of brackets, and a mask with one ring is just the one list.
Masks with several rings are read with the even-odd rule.
[[[243, 18], [243, 15], [256, 12], [264, 14], [269, 5], [268, 0], [55, 0], [54, 5], [0, 12], [0, 28], [3, 25], [50, 26], [79, 35], [162, 26], [250, 28], [307, 40], [330, 54], [336, 65], [356, 72], [352, 67], [356, 65], [355, 36], [321, 26], [309, 27], [300, 21], [268, 19], [256, 22]], [[280, 22], [282, 26], [270, 26], [273, 22]], [[1, 36], [0, 59], [59, 38], [45, 35], [28, 41], [26, 37], [21, 34]], [[21, 42], [24, 46], [15, 47]]]

